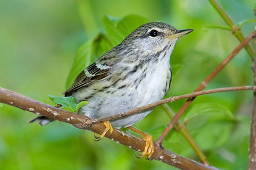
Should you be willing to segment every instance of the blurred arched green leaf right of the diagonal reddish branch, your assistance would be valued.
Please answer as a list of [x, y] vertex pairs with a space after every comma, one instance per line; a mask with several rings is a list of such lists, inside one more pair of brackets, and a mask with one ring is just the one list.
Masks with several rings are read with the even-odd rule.
[[195, 104], [187, 115], [183, 118], [185, 123], [194, 120], [194, 127], [204, 125], [208, 120], [232, 120], [232, 112], [225, 106], [218, 103]]

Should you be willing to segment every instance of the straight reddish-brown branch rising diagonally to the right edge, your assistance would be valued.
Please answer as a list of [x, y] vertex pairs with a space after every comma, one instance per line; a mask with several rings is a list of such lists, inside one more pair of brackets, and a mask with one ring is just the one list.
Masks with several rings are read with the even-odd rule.
[[[215, 70], [213, 70], [212, 73], [210, 73], [210, 75], [208, 75], [207, 78], [205, 78], [204, 81], [201, 82], [201, 84], [199, 84], [199, 86], [196, 88], [196, 90], [194, 90], [194, 92], [199, 92], [202, 89], [204, 89], [207, 84], [213, 79], [215, 78], [215, 76], [236, 56], [236, 54], [238, 54], [238, 52], [240, 52], [244, 46], [246, 46], [246, 44], [248, 44], [254, 37], [256, 36], [256, 30], [254, 32], [252, 32], [249, 36], [246, 37], [246, 39], [244, 39], [243, 42], [241, 42], [238, 46], [235, 47], [235, 49], [227, 56], [227, 58], [225, 58], [225, 60], [222, 61], [221, 64], [219, 64], [218, 67], [216, 67]], [[188, 98], [188, 100], [183, 104], [183, 106], [180, 108], [179, 112], [177, 112], [177, 114], [175, 115], [175, 117], [170, 121], [170, 123], [168, 124], [168, 126], [166, 127], [165, 131], [163, 131], [162, 135], [158, 138], [157, 140], [157, 144], [160, 146], [163, 142], [163, 140], [165, 139], [166, 135], [169, 133], [169, 131], [171, 131], [171, 129], [173, 128], [174, 124], [177, 122], [177, 120], [179, 120], [179, 118], [182, 116], [182, 114], [185, 112], [185, 110], [188, 108], [188, 106], [190, 106], [190, 104], [192, 103], [192, 101], [194, 100], [194, 98]]]

